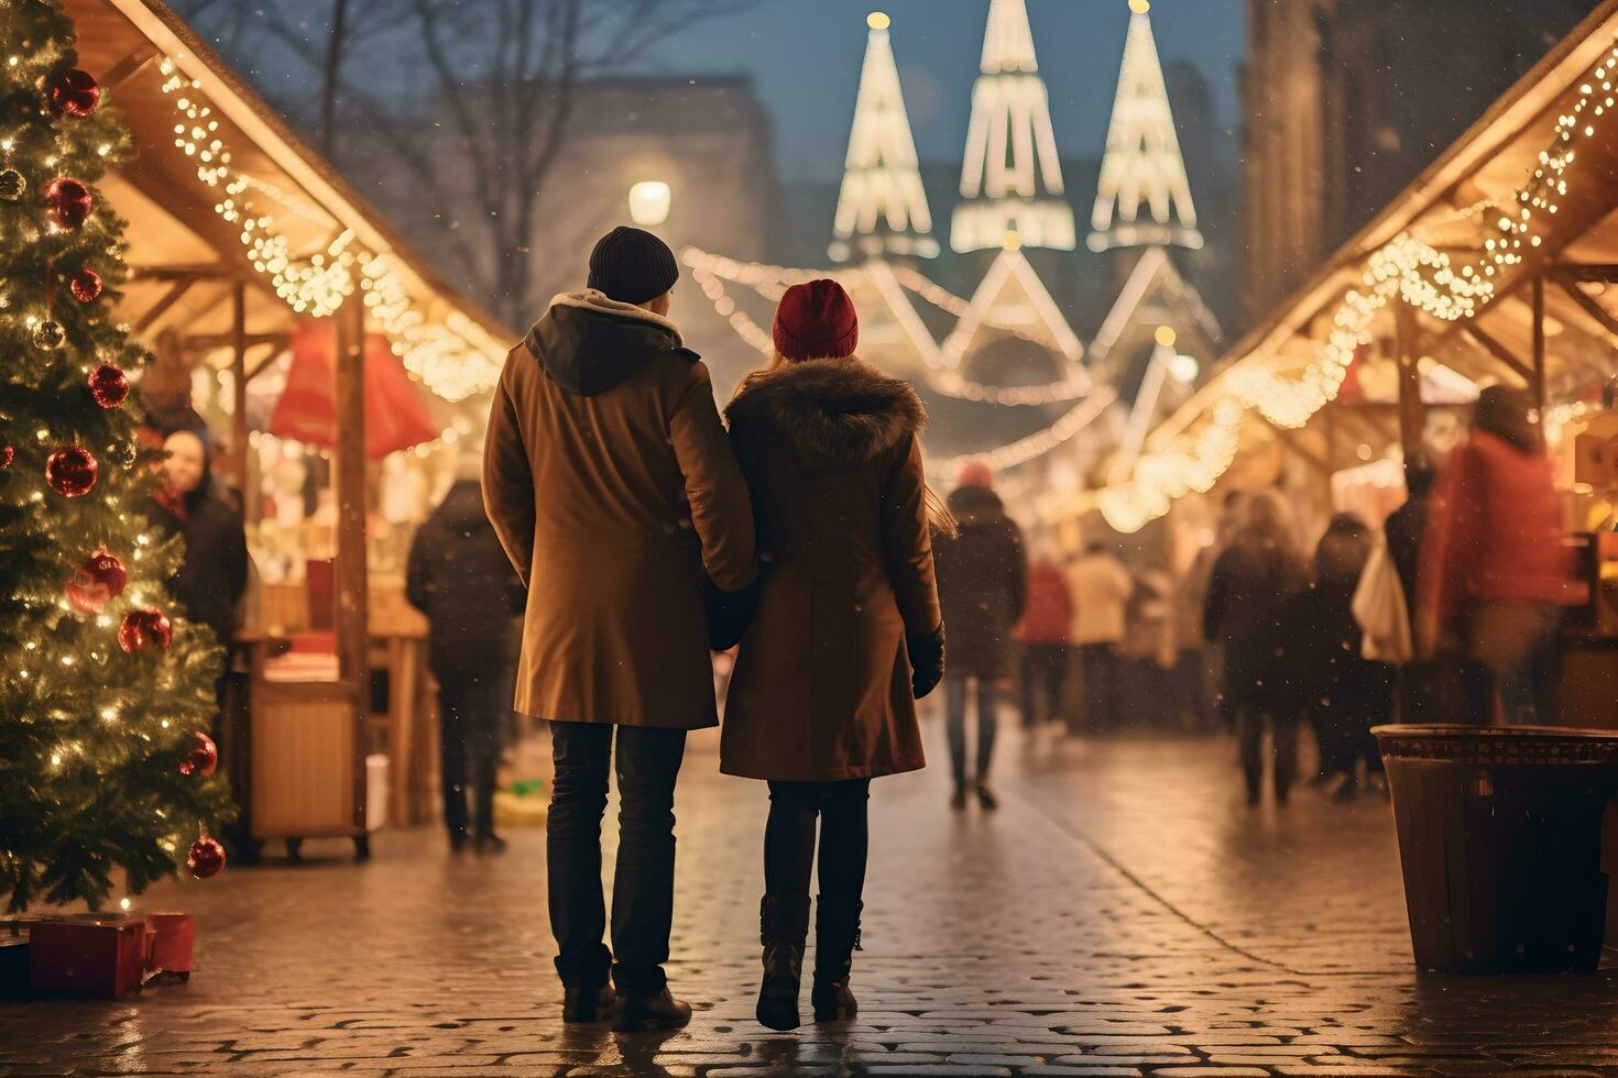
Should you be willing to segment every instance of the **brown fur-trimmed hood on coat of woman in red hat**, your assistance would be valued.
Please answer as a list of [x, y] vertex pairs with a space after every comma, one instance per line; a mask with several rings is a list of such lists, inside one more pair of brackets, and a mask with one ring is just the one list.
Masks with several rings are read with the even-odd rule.
[[749, 375], [725, 411], [738, 440], [780, 435], [809, 469], [853, 469], [921, 435], [927, 407], [858, 357], [811, 359]]

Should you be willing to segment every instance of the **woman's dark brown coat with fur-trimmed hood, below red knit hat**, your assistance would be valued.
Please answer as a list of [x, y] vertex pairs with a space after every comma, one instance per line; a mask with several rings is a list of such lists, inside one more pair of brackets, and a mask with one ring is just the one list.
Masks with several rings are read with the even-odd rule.
[[904, 638], [938, 629], [916, 393], [858, 359], [749, 378], [726, 412], [765, 562], [720, 769], [862, 779], [925, 766]]

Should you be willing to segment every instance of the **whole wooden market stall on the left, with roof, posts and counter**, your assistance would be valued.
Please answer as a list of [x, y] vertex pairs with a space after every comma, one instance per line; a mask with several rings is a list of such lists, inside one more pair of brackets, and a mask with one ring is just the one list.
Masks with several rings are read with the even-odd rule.
[[[406, 456], [426, 467], [460, 433], [481, 428], [511, 335], [435, 276], [163, 3], [65, 6], [79, 66], [134, 139], [134, 158], [107, 178], [102, 196], [128, 220], [133, 275], [118, 317], [155, 356], [142, 380], [146, 404], [159, 417], [205, 419], [223, 436], [220, 464], [243, 499], [249, 546], [260, 569], [277, 566], [238, 638], [249, 656], [252, 721], [235, 731], [236, 745], [222, 747], [236, 764], [238, 800], [256, 839], [290, 839], [296, 850], [303, 837], [343, 836], [364, 852], [372, 742], [387, 743], [388, 811], [398, 823], [429, 813], [434, 743], [422, 703], [426, 627], [403, 601], [396, 566], [409, 520], [382, 528], [377, 514], [379, 475], [406, 457], [367, 461], [367, 427], [375, 433], [379, 419], [392, 419], [392, 409], [367, 415], [367, 399], [379, 372], [395, 393], [403, 385], [424, 398], [419, 415], [435, 430], [400, 444], [414, 444]], [[332, 326], [325, 385], [314, 386], [324, 391], [314, 398], [328, 456], [314, 448], [320, 438], [278, 438], [254, 415], [265, 388], [285, 396], [291, 346], [311, 326]], [[380, 335], [380, 351], [367, 347], [367, 335]], [[322, 511], [299, 514], [286, 506], [291, 491], [280, 491], [282, 509], [294, 512], [273, 516], [291, 516], [291, 528], [265, 514], [275, 493], [264, 467], [270, 454], [304, 457], [316, 475], [298, 499], [325, 499]], [[387, 532], [392, 558], [379, 540], [367, 545], [367, 522]], [[382, 577], [371, 575], [377, 561]], [[388, 721], [375, 732], [367, 729], [372, 667], [390, 672]]]

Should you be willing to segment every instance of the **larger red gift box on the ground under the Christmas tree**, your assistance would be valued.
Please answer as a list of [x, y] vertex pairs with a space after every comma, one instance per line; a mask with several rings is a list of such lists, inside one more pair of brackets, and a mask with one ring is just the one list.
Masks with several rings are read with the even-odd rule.
[[36, 992], [123, 996], [141, 987], [146, 954], [142, 918], [39, 920], [29, 926], [28, 984]]

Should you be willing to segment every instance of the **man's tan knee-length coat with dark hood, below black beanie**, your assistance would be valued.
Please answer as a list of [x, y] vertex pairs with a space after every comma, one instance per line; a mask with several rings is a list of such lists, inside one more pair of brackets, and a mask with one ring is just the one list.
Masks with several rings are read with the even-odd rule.
[[707, 368], [670, 322], [557, 297], [500, 375], [484, 504], [527, 585], [518, 711], [717, 724], [702, 572], [726, 592], [752, 580], [752, 509]]

